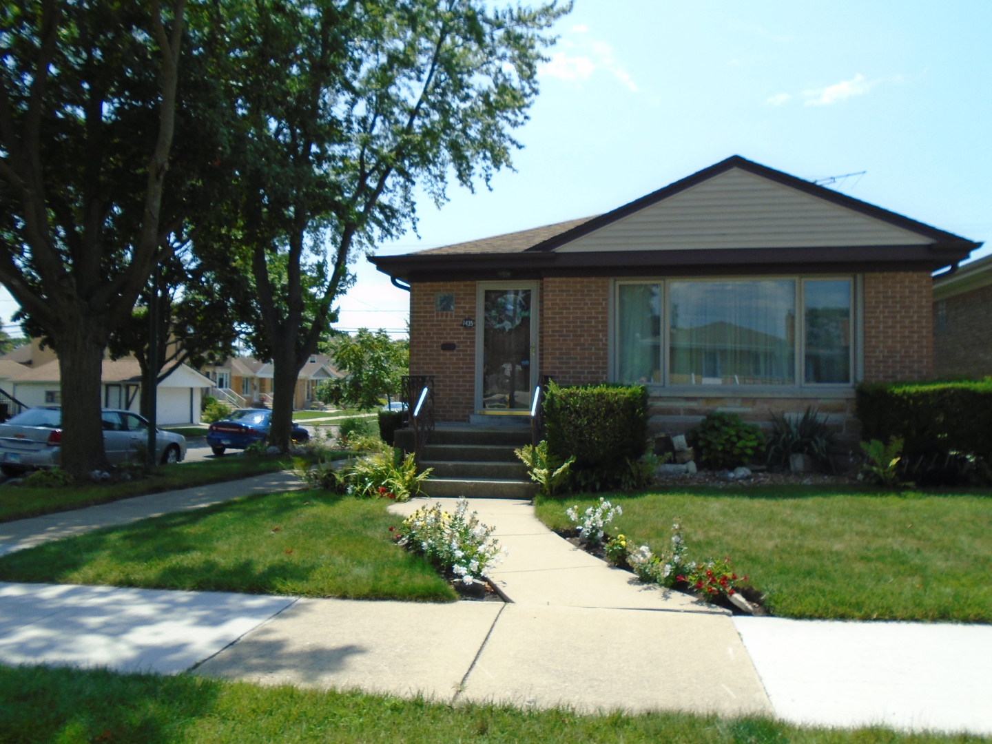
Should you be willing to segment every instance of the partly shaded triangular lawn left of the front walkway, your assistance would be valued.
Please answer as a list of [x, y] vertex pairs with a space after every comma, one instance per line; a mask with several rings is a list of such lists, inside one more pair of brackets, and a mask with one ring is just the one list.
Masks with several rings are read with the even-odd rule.
[[0, 580], [309, 597], [451, 601], [422, 557], [393, 544], [386, 499], [253, 496], [0, 558]]

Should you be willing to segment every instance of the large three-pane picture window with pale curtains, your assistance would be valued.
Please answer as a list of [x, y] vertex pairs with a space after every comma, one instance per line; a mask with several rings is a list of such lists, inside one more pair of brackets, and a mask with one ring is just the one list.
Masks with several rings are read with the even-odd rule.
[[618, 282], [616, 379], [850, 384], [853, 294], [851, 278]]

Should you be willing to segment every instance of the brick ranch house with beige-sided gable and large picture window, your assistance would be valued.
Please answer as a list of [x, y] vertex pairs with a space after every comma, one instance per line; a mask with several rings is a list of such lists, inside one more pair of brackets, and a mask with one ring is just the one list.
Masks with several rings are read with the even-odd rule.
[[373, 261], [409, 286], [438, 422], [526, 416], [550, 376], [646, 385], [656, 432], [814, 406], [850, 440], [859, 381], [932, 377], [930, 275], [979, 245], [734, 156], [599, 216]]

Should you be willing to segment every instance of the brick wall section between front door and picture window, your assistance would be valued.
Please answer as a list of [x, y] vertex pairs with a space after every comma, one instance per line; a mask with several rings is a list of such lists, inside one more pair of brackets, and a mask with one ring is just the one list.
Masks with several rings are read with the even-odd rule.
[[546, 279], [541, 289], [541, 373], [559, 385], [606, 382], [609, 279]]

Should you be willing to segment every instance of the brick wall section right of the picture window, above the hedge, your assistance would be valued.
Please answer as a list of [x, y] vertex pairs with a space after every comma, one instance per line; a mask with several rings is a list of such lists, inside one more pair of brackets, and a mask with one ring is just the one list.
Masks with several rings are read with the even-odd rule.
[[865, 274], [865, 381], [933, 376], [933, 291], [927, 272]]

